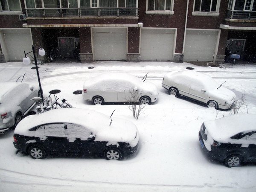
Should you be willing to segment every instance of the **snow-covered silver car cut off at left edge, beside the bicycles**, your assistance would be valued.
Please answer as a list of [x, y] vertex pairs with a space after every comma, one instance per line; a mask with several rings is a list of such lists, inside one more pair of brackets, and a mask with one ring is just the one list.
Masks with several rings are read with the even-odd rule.
[[3, 82], [0, 83], [0, 134], [16, 126], [38, 96], [38, 87], [28, 83]]

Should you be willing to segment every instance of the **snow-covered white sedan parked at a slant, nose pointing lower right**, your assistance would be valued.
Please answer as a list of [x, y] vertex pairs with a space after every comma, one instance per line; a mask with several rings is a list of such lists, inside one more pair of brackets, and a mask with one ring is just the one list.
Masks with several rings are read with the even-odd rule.
[[170, 95], [186, 96], [215, 109], [229, 109], [236, 99], [233, 91], [210, 76], [192, 70], [166, 73], [162, 86], [169, 90]]

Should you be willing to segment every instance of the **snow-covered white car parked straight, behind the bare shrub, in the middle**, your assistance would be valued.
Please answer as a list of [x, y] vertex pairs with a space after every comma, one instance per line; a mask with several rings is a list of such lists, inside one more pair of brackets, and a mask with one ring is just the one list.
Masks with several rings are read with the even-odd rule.
[[103, 73], [84, 82], [83, 99], [93, 105], [105, 102], [151, 104], [158, 98], [157, 87], [128, 73]]

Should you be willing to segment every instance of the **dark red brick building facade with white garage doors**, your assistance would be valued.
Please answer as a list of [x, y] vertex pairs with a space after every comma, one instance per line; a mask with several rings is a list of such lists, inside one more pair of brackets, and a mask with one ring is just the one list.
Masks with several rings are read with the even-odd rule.
[[67, 60], [224, 62], [256, 55], [256, 0], [0, 0], [0, 61], [42, 45]]

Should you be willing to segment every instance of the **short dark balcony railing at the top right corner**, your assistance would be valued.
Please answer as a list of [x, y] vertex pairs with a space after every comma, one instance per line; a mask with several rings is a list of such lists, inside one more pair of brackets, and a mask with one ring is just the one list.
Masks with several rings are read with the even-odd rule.
[[256, 20], [256, 11], [227, 11], [227, 18], [241, 20]]

